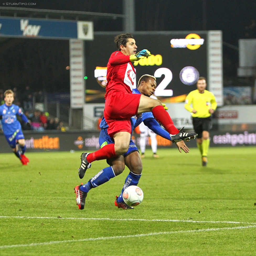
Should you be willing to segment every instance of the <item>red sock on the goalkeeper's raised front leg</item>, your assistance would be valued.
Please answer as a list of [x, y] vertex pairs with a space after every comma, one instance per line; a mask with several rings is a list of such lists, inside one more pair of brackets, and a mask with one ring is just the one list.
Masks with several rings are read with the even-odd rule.
[[169, 132], [169, 134], [177, 134], [179, 130], [174, 126], [172, 119], [168, 112], [162, 105], [156, 106], [152, 109], [152, 114], [157, 121]]

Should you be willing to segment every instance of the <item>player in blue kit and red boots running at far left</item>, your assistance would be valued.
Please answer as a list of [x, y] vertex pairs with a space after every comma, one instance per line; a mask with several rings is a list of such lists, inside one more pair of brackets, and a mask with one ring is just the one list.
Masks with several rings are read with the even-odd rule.
[[[14, 101], [14, 93], [12, 90], [6, 90], [4, 92], [4, 101], [5, 103], [0, 106], [0, 119], [4, 136], [12, 148], [13, 153], [20, 159], [22, 164], [26, 165], [29, 159], [24, 155], [26, 150], [25, 139], [16, 115], [21, 116], [22, 120], [29, 125], [28, 119], [22, 113], [19, 106], [12, 104]], [[21, 151], [19, 151], [19, 146]]]

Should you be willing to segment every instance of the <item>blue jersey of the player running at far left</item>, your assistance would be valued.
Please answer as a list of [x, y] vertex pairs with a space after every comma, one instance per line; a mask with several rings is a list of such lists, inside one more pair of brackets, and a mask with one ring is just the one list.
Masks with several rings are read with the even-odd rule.
[[13, 135], [17, 130], [21, 131], [21, 125], [16, 115], [20, 115], [25, 122], [28, 122], [27, 117], [22, 113], [19, 106], [14, 104], [7, 106], [5, 103], [0, 106], [0, 118], [2, 118], [4, 135]]

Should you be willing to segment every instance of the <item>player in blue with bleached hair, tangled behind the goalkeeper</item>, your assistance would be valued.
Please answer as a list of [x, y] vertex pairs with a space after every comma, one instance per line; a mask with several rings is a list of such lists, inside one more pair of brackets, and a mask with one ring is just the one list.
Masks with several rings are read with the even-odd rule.
[[[138, 82], [138, 87], [133, 89], [132, 93], [142, 94], [150, 97], [154, 94], [156, 89], [156, 78], [151, 75], [143, 75]], [[146, 126], [148, 126], [153, 132], [170, 140], [169, 133], [164, 130], [158, 122], [154, 119], [152, 112], [142, 113], [137, 116], [132, 116], [130, 119], [132, 130], [138, 126], [141, 122], [144, 122]], [[102, 118], [100, 123], [100, 136], [99, 136], [99, 144], [101, 147], [108, 145], [110, 143], [114, 143], [114, 139], [108, 135], [108, 124], [105, 121], [105, 118]], [[185, 152], [189, 152], [189, 148], [185, 145], [184, 141], [179, 141], [176, 143], [179, 151], [181, 149]], [[93, 178], [91, 178], [86, 184], [84, 185], [77, 185], [74, 190], [76, 193], [76, 201], [79, 209], [84, 209], [85, 199], [87, 193], [90, 189], [95, 188], [115, 176], [121, 174], [125, 169], [125, 165], [129, 168], [130, 173], [125, 179], [124, 186], [121, 190], [119, 196], [116, 196], [115, 206], [118, 208], [123, 209], [133, 209], [132, 206], [127, 205], [123, 198], [122, 193], [127, 188], [127, 186], [137, 185], [139, 179], [141, 177], [142, 172], [142, 162], [140, 158], [140, 154], [135, 143], [130, 140], [130, 145], [128, 151], [121, 155], [111, 159], [107, 159], [107, 163], [110, 165], [102, 169], [99, 173], [97, 173]], [[80, 177], [81, 178], [81, 177]]]

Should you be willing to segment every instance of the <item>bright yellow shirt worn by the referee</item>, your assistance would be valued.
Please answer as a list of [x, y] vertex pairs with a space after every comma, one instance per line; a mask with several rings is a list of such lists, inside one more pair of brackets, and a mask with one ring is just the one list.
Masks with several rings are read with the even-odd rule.
[[[192, 108], [190, 106], [192, 104]], [[211, 114], [209, 109], [215, 110], [217, 108], [217, 103], [215, 101], [214, 95], [204, 90], [204, 93], [200, 93], [198, 89], [190, 92], [185, 99], [185, 109], [191, 112], [192, 117], [206, 118]], [[194, 114], [192, 110], [195, 109], [197, 112]]]

